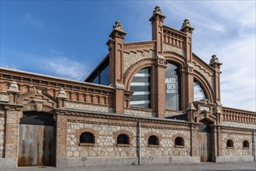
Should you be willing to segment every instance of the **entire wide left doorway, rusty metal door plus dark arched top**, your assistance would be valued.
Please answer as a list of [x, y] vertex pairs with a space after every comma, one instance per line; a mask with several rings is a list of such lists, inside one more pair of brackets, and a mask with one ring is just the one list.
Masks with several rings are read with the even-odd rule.
[[23, 115], [19, 124], [18, 166], [54, 166], [55, 126], [52, 116], [46, 113]]

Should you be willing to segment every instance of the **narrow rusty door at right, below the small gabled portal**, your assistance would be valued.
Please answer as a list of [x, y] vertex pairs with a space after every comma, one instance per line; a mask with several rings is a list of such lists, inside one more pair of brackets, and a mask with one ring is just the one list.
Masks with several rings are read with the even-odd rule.
[[212, 155], [211, 133], [199, 133], [199, 151], [201, 162], [211, 162]]

